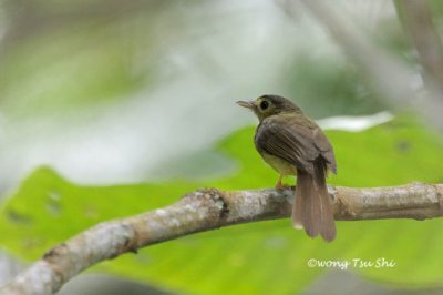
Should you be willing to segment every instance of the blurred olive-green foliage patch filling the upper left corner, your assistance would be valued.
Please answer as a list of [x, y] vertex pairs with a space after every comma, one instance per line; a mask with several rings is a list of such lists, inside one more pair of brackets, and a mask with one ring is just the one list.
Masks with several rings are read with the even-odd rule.
[[143, 0], [3, 1], [1, 114], [13, 122], [60, 118], [150, 87], [157, 70], [150, 57], [158, 50], [152, 22], [164, 8]]

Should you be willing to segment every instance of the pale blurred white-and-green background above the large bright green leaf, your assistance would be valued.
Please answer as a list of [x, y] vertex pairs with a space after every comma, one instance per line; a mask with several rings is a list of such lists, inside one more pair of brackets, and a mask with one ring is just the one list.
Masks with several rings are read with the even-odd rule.
[[[80, 183], [171, 176], [165, 161], [255, 123], [235, 101], [269, 92], [316, 118], [384, 110], [295, 3], [3, 1], [0, 190], [40, 164]], [[401, 45], [391, 2], [343, 4]]]

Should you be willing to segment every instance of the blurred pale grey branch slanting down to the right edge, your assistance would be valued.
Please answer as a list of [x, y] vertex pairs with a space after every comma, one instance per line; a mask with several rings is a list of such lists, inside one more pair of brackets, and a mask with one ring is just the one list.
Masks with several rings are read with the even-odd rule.
[[[423, 98], [412, 87], [415, 77], [412, 69], [365, 38], [362, 30], [350, 21], [349, 14], [332, 1], [301, 0], [306, 8], [342, 47], [367, 74], [372, 87], [395, 108], [409, 106], [421, 114], [431, 125], [443, 130], [442, 90], [433, 81], [426, 81], [427, 93]], [[419, 1], [420, 2], [420, 1]]]

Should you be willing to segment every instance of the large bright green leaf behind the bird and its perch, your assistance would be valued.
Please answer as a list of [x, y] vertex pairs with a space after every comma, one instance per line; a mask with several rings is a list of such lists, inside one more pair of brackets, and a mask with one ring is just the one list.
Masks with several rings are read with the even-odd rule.
[[[237, 163], [234, 175], [198, 183], [80, 186], [41, 167], [0, 208], [0, 243], [20, 257], [37, 260], [97, 222], [165, 206], [202, 186], [272, 186], [277, 175], [256, 153], [253, 133], [253, 128], [240, 130], [213, 150]], [[328, 136], [339, 163], [339, 174], [330, 183], [443, 181], [442, 141], [410, 115], [360, 133], [330, 131]], [[395, 267], [351, 271], [384, 283], [425, 286], [443, 278], [442, 225], [442, 218], [339, 222], [337, 241], [326, 244], [293, 231], [288, 220], [269, 221], [186, 236], [103, 262], [94, 269], [193, 294], [288, 294], [302, 291], [324, 271], [309, 268], [309, 258], [385, 257]]]

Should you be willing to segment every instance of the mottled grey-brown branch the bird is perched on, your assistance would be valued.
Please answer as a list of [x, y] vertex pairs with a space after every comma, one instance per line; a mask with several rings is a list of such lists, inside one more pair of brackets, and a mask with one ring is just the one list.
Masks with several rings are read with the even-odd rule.
[[[103, 222], [50, 250], [0, 288], [0, 294], [53, 294], [85, 268], [147, 245], [227, 225], [288, 217], [292, 190], [199, 190], [167, 207]], [[443, 216], [443, 184], [329, 186], [329, 193], [340, 221]]]

